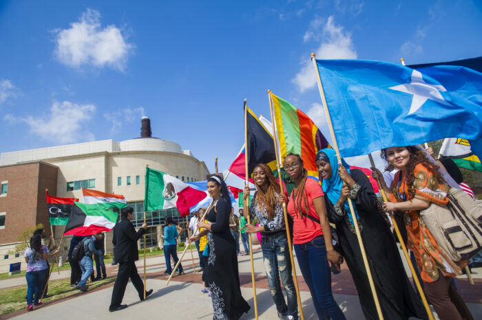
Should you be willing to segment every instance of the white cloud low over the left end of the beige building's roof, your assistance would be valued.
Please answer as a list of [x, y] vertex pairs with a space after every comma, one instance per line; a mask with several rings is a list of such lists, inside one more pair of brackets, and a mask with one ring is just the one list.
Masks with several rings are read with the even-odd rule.
[[48, 115], [40, 117], [6, 115], [3, 119], [9, 122], [25, 122], [30, 127], [30, 133], [42, 139], [58, 144], [70, 144], [76, 141], [94, 140], [94, 135], [87, 130], [86, 126], [95, 111], [96, 107], [92, 104], [54, 101]]

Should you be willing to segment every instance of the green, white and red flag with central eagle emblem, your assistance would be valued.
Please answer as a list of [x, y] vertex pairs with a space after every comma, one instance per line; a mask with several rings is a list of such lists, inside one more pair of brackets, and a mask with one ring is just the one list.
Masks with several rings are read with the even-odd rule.
[[154, 211], [177, 207], [181, 216], [206, 198], [206, 192], [196, 190], [164, 172], [146, 167], [144, 210]]

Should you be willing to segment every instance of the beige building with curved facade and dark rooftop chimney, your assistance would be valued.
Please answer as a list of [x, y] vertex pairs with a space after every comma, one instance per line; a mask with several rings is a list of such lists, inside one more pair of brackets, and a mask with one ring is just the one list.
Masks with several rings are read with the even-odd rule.
[[[135, 209], [134, 225], [143, 222], [143, 201], [145, 168], [160, 170], [176, 176], [185, 182], [205, 180], [209, 171], [203, 161], [196, 159], [190, 150], [182, 150], [173, 141], [151, 137], [149, 118], [143, 117], [141, 137], [117, 142], [112, 139], [39, 148], [0, 155], [2, 166], [43, 161], [58, 168], [56, 194], [51, 196], [78, 198], [82, 202], [82, 188], [107, 193], [123, 194], [129, 205]], [[39, 190], [45, 192], [45, 190]], [[45, 198], [44, 198], [45, 199]], [[0, 207], [0, 212], [4, 212]], [[149, 226], [147, 246], [158, 245], [158, 233], [165, 216], [178, 216], [176, 209], [147, 213]], [[9, 215], [6, 213], [4, 229], [8, 229]], [[185, 220], [182, 220], [185, 222]], [[50, 225], [45, 226], [46, 230]], [[60, 239], [63, 227], [54, 227], [55, 238]], [[69, 239], [64, 240], [63, 251], [68, 250]], [[105, 249], [112, 249], [111, 238], [107, 235]], [[64, 247], [65, 244], [65, 247]], [[65, 253], [65, 252], [64, 252]], [[66, 255], [66, 253], [65, 253]]]

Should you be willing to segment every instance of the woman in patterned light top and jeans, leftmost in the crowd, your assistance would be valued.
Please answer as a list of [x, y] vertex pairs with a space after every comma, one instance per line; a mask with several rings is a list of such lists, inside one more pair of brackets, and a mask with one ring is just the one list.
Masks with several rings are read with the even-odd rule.
[[25, 279], [27, 279], [27, 311], [39, 305], [45, 280], [48, 277], [47, 260], [59, 253], [59, 249], [49, 253], [48, 248], [42, 245], [41, 235], [36, 234], [30, 238], [30, 247], [25, 250], [23, 257], [27, 263]]

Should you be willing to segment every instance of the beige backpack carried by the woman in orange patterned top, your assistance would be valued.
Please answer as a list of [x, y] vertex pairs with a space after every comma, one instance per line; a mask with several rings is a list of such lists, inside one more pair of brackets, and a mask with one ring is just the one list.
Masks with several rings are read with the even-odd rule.
[[447, 196], [446, 206], [430, 203], [420, 216], [450, 260], [468, 260], [482, 247], [482, 205], [455, 188]]

